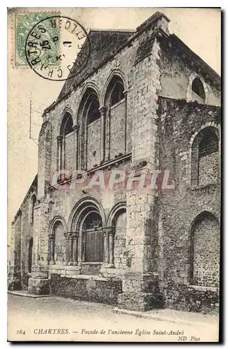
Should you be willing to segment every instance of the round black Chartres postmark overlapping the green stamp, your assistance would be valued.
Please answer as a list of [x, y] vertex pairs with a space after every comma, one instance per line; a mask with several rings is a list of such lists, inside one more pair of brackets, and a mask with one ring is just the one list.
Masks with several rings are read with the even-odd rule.
[[56, 15], [40, 20], [29, 31], [25, 56], [40, 77], [64, 81], [84, 69], [90, 49], [89, 37], [82, 24]]

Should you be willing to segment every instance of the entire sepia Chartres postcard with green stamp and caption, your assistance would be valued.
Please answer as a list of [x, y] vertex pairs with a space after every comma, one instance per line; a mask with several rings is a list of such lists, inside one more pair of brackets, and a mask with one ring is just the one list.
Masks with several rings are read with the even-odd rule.
[[8, 341], [220, 341], [220, 8], [8, 8]]

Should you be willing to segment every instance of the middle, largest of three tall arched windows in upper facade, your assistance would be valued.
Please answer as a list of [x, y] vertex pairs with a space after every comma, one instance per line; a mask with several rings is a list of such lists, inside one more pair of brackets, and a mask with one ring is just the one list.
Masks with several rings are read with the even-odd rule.
[[100, 165], [101, 123], [99, 108], [98, 94], [94, 89], [88, 88], [79, 107], [82, 119], [81, 167], [88, 170]]

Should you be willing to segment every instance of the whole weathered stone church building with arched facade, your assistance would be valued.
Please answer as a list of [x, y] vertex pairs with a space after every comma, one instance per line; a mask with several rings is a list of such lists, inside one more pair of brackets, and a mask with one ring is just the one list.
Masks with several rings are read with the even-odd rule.
[[[135, 31], [89, 32], [88, 64], [43, 113], [38, 174], [12, 223], [11, 290], [218, 310], [220, 77], [168, 24], [155, 13]], [[123, 168], [169, 170], [174, 188], [61, 190], [74, 170]]]

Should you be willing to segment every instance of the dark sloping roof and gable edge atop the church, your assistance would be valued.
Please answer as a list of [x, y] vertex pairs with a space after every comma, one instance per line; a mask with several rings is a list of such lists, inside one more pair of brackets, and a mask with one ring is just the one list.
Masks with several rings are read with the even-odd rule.
[[[142, 31], [146, 31], [149, 27], [155, 27], [156, 22], [161, 18], [165, 18], [167, 22], [169, 22], [169, 18], [166, 17], [163, 13], [156, 12], [148, 20], [144, 21], [139, 27], [137, 27], [136, 31], [129, 30], [99, 30], [93, 29], [89, 31], [88, 37], [89, 42], [91, 44], [91, 54], [89, 56], [89, 60], [83, 70], [77, 74], [75, 77], [71, 79], [68, 78], [59, 97], [56, 102], [52, 103], [49, 107], [45, 109], [45, 112], [49, 112], [52, 108], [54, 108], [63, 98], [66, 98], [70, 91], [75, 88], [78, 84], [80, 84], [83, 80], [85, 80], [89, 75], [93, 74], [95, 70], [103, 66], [108, 59], [112, 59], [114, 55], [121, 50], [122, 48], [130, 45], [132, 40], [135, 40]], [[155, 36], [158, 33], [162, 34], [162, 38], [165, 38], [166, 43], [172, 43], [169, 50], [172, 52], [172, 47], [176, 47], [178, 54], [182, 56], [182, 59], [188, 61], [188, 64], [195, 64], [197, 69], [202, 71], [202, 75], [211, 80], [212, 84], [215, 85], [216, 88], [220, 89], [221, 78], [218, 73], [215, 72], [206, 62], [201, 59], [197, 54], [192, 52], [190, 48], [181, 41], [176, 35], [165, 33], [160, 27], [155, 28], [155, 31], [151, 38], [147, 37], [142, 40], [140, 43], [137, 54], [135, 57], [135, 64], [137, 64], [140, 60], [144, 59], [149, 52], [151, 52], [151, 47], [153, 46], [153, 41]], [[84, 43], [86, 45], [86, 41]], [[102, 54], [100, 54], [102, 52]], [[77, 64], [78, 57], [75, 61], [75, 65]], [[74, 70], [72, 70], [74, 71]], [[70, 74], [69, 74], [70, 77]]]

